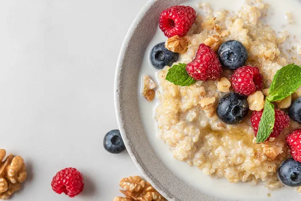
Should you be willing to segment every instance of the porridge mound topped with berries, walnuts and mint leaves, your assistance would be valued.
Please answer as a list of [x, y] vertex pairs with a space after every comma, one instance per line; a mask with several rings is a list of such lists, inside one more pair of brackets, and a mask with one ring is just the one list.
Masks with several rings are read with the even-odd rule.
[[179, 58], [151, 60], [160, 69], [158, 133], [174, 158], [273, 189], [301, 186], [301, 67], [283, 51], [289, 35], [261, 21], [268, 8], [260, 0], [237, 12], [168, 8], [159, 19], [168, 38], [154, 49]]

